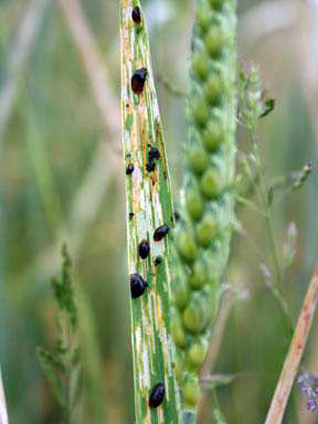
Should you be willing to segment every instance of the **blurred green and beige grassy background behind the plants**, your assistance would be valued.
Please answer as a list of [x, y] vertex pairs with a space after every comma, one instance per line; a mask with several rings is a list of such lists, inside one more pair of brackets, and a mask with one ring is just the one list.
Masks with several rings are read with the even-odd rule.
[[[187, 138], [187, 91], [193, 0], [141, 1], [174, 194]], [[317, 1], [239, 1], [240, 64], [259, 66], [276, 98], [259, 126], [266, 181], [318, 159]], [[56, 312], [50, 279], [66, 242], [78, 292], [85, 390], [78, 423], [132, 423], [134, 390], [126, 267], [124, 168], [119, 127], [118, 1], [0, 0], [0, 359], [10, 422], [59, 423], [56, 404], [35, 358], [50, 346]], [[161, 81], [161, 82], [160, 82]], [[105, 106], [106, 105], [106, 106]], [[240, 150], [248, 149], [239, 130]], [[318, 172], [274, 201], [279, 254], [288, 223], [297, 254], [285, 295], [295, 319], [318, 258]], [[264, 222], [237, 218], [258, 245], [235, 235], [227, 280], [245, 290], [223, 332], [213, 372], [239, 373], [218, 391], [229, 423], [262, 423], [288, 340], [264, 284]], [[304, 367], [318, 374], [317, 318]], [[295, 391], [286, 423], [317, 423]], [[296, 411], [296, 412], [295, 412]], [[209, 405], [202, 423], [209, 423]], [[316, 420], [316, 421], [315, 421]]]

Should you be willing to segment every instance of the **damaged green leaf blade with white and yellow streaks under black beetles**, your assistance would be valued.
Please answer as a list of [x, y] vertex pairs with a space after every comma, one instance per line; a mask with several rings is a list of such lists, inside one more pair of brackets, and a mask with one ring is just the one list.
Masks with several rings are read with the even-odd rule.
[[[132, 20], [134, 8], [139, 8], [140, 23]], [[153, 240], [156, 229], [173, 224], [173, 210], [149, 41], [138, 0], [120, 1], [120, 42], [124, 160], [130, 169], [126, 172], [128, 269], [130, 276], [139, 274], [147, 280], [145, 293], [130, 299], [136, 423], [178, 423], [179, 393], [169, 335], [169, 244], [167, 237]], [[145, 85], [136, 93], [131, 77], [140, 70]], [[150, 160], [150, 147], [160, 158]], [[141, 241], [150, 246], [145, 259], [138, 255]], [[158, 383], [165, 384], [163, 402], [149, 407], [151, 389]]]

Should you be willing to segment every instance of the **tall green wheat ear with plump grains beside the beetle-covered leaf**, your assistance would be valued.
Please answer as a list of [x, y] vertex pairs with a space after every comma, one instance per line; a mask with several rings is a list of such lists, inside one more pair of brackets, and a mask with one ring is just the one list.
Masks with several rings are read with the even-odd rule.
[[174, 245], [186, 277], [173, 283], [172, 337], [183, 402], [194, 409], [219, 286], [227, 262], [235, 161], [235, 1], [198, 0], [189, 96], [184, 197]]

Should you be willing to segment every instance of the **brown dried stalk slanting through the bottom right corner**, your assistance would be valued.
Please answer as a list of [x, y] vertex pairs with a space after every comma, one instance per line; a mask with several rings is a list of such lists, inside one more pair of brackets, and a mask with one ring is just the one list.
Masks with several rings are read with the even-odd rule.
[[285, 359], [272, 404], [265, 424], [279, 424], [283, 421], [289, 393], [293, 388], [299, 362], [305, 350], [306, 341], [318, 303], [318, 266], [314, 272], [306, 298], [299, 315], [296, 330]]

